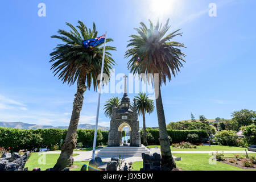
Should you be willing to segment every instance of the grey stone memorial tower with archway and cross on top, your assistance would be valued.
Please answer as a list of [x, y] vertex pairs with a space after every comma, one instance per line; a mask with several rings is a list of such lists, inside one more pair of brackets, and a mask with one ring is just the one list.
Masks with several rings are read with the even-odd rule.
[[123, 127], [128, 126], [130, 129], [130, 146], [141, 147], [141, 132], [139, 131], [139, 119], [135, 100], [133, 105], [130, 104], [130, 98], [127, 96], [126, 78], [125, 75], [125, 90], [121, 104], [118, 107], [113, 107], [108, 147], [120, 146], [122, 144]]

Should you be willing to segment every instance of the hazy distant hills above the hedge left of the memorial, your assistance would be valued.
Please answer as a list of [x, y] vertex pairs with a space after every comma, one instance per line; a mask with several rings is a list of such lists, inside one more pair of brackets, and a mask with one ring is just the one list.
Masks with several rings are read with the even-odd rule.
[[[4, 122], [0, 121], [0, 127], [11, 127], [14, 129], [68, 129], [68, 126], [34, 125], [23, 122]], [[94, 129], [95, 125], [80, 124], [79, 129]], [[98, 126], [99, 130], [109, 130], [109, 127]]]

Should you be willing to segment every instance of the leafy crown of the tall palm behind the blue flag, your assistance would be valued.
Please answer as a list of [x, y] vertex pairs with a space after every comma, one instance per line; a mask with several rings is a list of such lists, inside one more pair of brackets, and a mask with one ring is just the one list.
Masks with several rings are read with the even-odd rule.
[[[86, 84], [88, 89], [93, 85], [94, 90], [96, 90], [99, 83], [98, 75], [101, 71], [103, 44], [85, 48], [82, 41], [96, 38], [98, 32], [95, 23], [93, 23], [92, 30], [89, 28], [89, 31], [83, 22], [79, 20], [78, 23], [79, 26], [76, 27], [71, 23], [66, 23], [71, 28], [70, 31], [59, 30], [60, 35], [51, 36], [51, 38], [60, 39], [65, 43], [58, 44], [50, 53], [51, 70], [54, 76], [57, 76], [63, 83], [67, 82], [68, 85], [73, 85], [75, 82], [77, 85]], [[106, 42], [113, 42], [113, 39], [108, 38]], [[115, 50], [115, 47], [106, 46], [104, 73], [109, 77], [115, 65], [109, 51]]]

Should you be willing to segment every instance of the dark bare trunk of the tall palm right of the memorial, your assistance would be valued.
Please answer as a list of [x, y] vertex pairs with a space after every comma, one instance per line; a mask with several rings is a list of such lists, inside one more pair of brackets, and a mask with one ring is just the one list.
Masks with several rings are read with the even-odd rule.
[[154, 84], [154, 89], [156, 96], [156, 112], [158, 114], [159, 142], [161, 147], [161, 170], [171, 171], [173, 168], [176, 168], [176, 164], [174, 158], [172, 158], [170, 140], [168, 139], [168, 133], [166, 129], [166, 118], [164, 117], [160, 80], [159, 85]]

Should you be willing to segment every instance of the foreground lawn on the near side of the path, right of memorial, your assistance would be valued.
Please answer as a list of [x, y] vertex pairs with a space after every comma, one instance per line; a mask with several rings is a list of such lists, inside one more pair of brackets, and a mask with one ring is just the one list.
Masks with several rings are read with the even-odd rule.
[[[235, 154], [224, 155], [225, 158], [231, 158]], [[256, 156], [256, 154], [249, 155]], [[185, 171], [244, 171], [244, 169], [221, 162], [209, 164], [210, 155], [208, 154], [175, 154], [175, 156], [181, 157], [181, 161], [176, 161], [176, 166]], [[133, 163], [133, 171], [139, 171], [140, 168], [142, 168], [142, 161]]]

